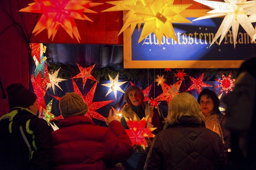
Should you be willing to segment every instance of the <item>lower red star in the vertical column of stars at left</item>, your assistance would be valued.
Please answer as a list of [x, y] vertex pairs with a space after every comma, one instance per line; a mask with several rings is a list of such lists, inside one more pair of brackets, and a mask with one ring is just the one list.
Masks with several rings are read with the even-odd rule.
[[36, 78], [34, 77], [34, 75], [31, 75], [31, 81], [34, 92], [37, 96], [38, 111], [41, 111], [41, 107], [46, 109], [44, 95], [46, 93], [45, 86], [47, 81], [41, 77], [41, 72], [38, 73], [38, 76]]

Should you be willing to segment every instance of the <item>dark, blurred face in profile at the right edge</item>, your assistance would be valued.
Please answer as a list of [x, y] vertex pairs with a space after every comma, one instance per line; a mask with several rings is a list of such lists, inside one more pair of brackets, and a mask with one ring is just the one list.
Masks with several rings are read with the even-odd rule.
[[232, 92], [223, 97], [226, 104], [225, 126], [233, 131], [247, 131], [250, 128], [255, 104], [256, 79], [244, 71], [234, 82]]

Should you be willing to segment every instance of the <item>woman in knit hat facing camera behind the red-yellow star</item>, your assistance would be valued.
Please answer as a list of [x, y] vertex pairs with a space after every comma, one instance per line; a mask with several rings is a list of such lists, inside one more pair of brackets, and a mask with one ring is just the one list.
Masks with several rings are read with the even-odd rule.
[[[121, 123], [125, 129], [129, 129], [125, 117], [128, 119], [134, 119], [140, 121], [143, 117], [148, 116], [147, 127], [157, 127], [152, 131], [153, 134], [157, 134], [163, 128], [163, 116], [161, 115], [159, 108], [149, 107], [147, 102], [143, 102], [145, 96], [143, 91], [137, 85], [131, 85], [125, 90], [124, 100], [126, 105], [122, 108]], [[161, 120], [162, 119], [162, 120]]]

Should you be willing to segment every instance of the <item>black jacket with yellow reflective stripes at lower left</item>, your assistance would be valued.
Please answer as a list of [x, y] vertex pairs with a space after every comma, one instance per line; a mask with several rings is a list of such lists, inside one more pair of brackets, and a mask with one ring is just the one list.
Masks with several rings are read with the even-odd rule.
[[49, 170], [52, 136], [44, 119], [25, 108], [0, 118], [0, 169]]

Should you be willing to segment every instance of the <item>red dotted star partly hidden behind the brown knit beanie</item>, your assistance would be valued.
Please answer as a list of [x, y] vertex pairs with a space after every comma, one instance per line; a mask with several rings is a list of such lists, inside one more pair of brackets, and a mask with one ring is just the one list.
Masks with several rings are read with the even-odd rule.
[[[102, 116], [101, 114], [99, 114], [98, 112], [96, 112], [96, 110], [98, 110], [99, 108], [102, 108], [105, 105], [108, 105], [109, 103], [113, 102], [114, 100], [93, 102], [93, 97], [94, 97], [94, 94], [96, 91], [97, 82], [94, 83], [93, 87], [90, 89], [90, 91], [87, 93], [86, 96], [83, 96], [81, 94], [81, 91], [79, 90], [78, 86], [76, 85], [76, 82], [74, 81], [74, 79], [72, 79], [72, 82], [73, 82], [74, 92], [76, 94], [79, 94], [79, 96], [81, 96], [84, 99], [84, 102], [88, 105], [89, 110], [87, 111], [87, 113], [85, 113], [85, 116], [89, 117], [90, 119], [94, 118], [94, 119], [105, 121], [105, 117]], [[59, 101], [61, 100], [60, 97], [56, 97], [56, 96], [53, 96], [53, 97]]]

